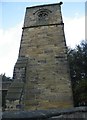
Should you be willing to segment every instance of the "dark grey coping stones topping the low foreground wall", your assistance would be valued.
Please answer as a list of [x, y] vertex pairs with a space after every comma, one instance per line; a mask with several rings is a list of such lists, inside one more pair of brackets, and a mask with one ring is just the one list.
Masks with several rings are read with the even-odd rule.
[[70, 109], [31, 110], [31, 111], [5, 111], [2, 113], [2, 120], [8, 119], [42, 120], [54, 116], [74, 114], [77, 112], [86, 113], [87, 107], [74, 107]]

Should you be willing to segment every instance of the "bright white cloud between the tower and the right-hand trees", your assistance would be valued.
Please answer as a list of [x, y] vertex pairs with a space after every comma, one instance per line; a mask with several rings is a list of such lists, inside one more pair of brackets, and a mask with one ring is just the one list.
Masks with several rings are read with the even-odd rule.
[[63, 21], [66, 43], [74, 48], [82, 40], [85, 40], [85, 16], [75, 18], [64, 17]]

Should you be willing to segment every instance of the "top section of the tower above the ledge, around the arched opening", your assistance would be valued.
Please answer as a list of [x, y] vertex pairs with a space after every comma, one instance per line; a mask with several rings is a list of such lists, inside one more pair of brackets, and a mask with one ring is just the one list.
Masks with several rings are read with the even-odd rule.
[[[45, 18], [45, 16], [47, 17]], [[45, 19], [43, 20], [43, 18]], [[40, 25], [48, 26], [48, 24], [55, 24], [55, 23], [58, 24], [61, 22], [61, 20], [62, 20], [61, 8], [59, 4], [27, 7], [24, 27], [32, 27], [32, 26], [40, 26]]]

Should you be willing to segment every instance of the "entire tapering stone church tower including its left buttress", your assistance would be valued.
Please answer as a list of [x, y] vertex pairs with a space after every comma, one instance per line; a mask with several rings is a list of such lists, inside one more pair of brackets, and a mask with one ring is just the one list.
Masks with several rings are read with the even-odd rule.
[[61, 4], [26, 8], [7, 110], [73, 106]]

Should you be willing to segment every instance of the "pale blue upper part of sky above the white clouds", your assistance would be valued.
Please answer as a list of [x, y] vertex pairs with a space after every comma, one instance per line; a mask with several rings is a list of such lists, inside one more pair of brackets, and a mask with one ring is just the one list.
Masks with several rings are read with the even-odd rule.
[[[28, 6], [41, 5], [53, 2], [3, 2], [2, 3], [2, 21], [3, 28], [15, 26], [24, 19], [25, 10]], [[77, 14], [85, 14], [84, 2], [64, 2], [62, 5], [62, 14], [65, 17], [75, 17]]]

